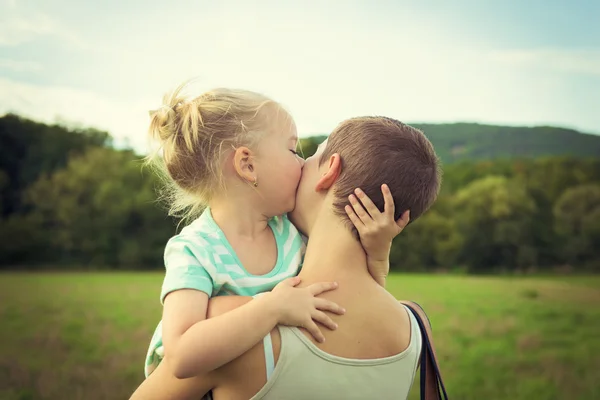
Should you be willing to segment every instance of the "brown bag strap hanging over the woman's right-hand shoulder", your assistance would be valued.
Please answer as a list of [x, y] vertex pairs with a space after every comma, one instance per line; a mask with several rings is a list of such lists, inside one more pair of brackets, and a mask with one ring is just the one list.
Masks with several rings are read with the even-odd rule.
[[[415, 316], [421, 331], [422, 346], [421, 346], [421, 400], [448, 400], [446, 387], [442, 380], [435, 348], [433, 346], [433, 335], [431, 332], [431, 324], [427, 314], [423, 308], [413, 301], [401, 301]], [[440, 391], [441, 389], [441, 391]]]

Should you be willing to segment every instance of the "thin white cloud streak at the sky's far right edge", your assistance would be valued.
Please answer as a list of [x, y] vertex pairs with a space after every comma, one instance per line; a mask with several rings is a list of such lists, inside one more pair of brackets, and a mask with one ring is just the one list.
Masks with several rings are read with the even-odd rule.
[[600, 48], [499, 50], [490, 58], [517, 67], [600, 76]]

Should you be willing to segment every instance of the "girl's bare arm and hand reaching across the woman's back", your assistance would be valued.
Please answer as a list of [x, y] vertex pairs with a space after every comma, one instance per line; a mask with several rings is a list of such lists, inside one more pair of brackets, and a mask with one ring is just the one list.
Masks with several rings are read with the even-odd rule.
[[[317, 298], [333, 290], [335, 283], [316, 283], [295, 288], [300, 278], [279, 283], [272, 292], [215, 318], [206, 319], [208, 295], [178, 290], [165, 298], [163, 345], [165, 360], [175, 377], [185, 379], [232, 361], [260, 342], [277, 324], [303, 326], [318, 341], [319, 322], [329, 329], [337, 325], [323, 311], [342, 314], [337, 304]], [[167, 360], [168, 359], [168, 360]]]

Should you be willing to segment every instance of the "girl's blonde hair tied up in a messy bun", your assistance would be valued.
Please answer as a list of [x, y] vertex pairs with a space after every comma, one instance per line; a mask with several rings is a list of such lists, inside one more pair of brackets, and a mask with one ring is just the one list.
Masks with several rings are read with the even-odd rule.
[[219, 88], [186, 98], [188, 84], [166, 94], [162, 107], [150, 112], [150, 138], [159, 146], [146, 158], [166, 184], [162, 197], [169, 215], [184, 220], [197, 216], [223, 187], [224, 155], [254, 146], [268, 130], [266, 108], [282, 109], [247, 90]]

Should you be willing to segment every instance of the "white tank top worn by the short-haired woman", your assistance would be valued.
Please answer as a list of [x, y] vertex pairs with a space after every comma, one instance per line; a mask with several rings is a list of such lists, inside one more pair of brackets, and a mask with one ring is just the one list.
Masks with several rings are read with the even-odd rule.
[[[421, 332], [413, 313], [410, 342], [403, 352], [377, 359], [325, 353], [297, 328], [279, 327], [281, 352], [272, 369], [273, 349], [265, 340], [267, 383], [252, 399], [406, 399], [421, 354]], [[272, 370], [271, 370], [272, 369]]]

